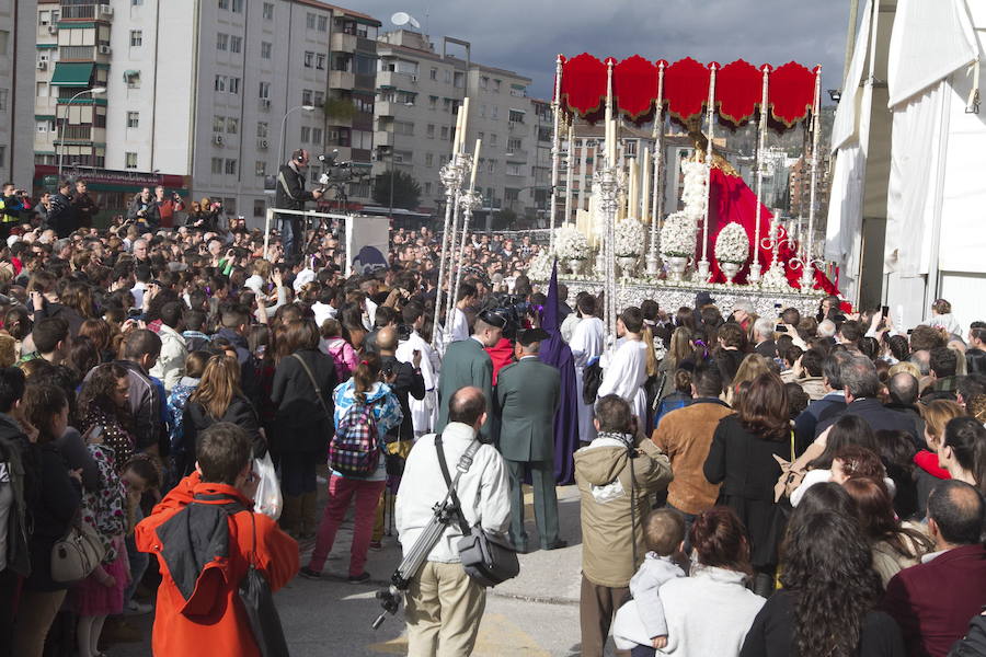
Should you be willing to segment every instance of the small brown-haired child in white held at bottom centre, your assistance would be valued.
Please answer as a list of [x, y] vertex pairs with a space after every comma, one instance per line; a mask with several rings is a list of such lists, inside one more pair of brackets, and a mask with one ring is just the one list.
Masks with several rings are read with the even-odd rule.
[[653, 657], [667, 645], [667, 623], [657, 590], [685, 572], [675, 563], [685, 548], [685, 518], [680, 512], [656, 509], [644, 521], [647, 554], [630, 580], [633, 599], [623, 604], [612, 624], [617, 648], [631, 650], [633, 657]]

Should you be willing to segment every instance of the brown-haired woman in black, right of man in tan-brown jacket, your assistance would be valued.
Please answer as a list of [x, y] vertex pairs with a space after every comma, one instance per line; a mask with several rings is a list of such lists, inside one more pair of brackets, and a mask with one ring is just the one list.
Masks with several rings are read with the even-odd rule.
[[773, 503], [780, 476], [775, 454], [791, 458], [788, 393], [780, 377], [760, 374], [740, 393], [737, 414], [719, 422], [706, 459], [706, 479], [722, 484], [721, 504], [731, 507], [749, 533], [750, 562], [756, 570], [754, 592], [773, 590], [777, 546], [783, 518]]

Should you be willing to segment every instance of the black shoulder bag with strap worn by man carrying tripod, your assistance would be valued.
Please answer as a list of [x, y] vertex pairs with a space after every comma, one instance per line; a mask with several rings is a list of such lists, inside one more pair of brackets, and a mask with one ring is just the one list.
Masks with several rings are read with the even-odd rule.
[[470, 443], [459, 461], [457, 466], [459, 473], [456, 474], [456, 481], [452, 482], [448, 473], [448, 465], [445, 463], [442, 435], [435, 436], [438, 465], [442, 468], [442, 475], [445, 477], [445, 484], [448, 486], [449, 495], [451, 496], [455, 517], [459, 523], [459, 530], [462, 532], [462, 538], [459, 539], [456, 545], [459, 550], [462, 568], [480, 586], [494, 587], [516, 577], [520, 573], [520, 562], [517, 558], [517, 552], [505, 539], [488, 533], [479, 523], [469, 527], [466, 516], [462, 515], [462, 507], [459, 504], [458, 495], [456, 495], [456, 484], [461, 473], [469, 470], [469, 466], [472, 464], [472, 458], [479, 448], [479, 440], [473, 440]]

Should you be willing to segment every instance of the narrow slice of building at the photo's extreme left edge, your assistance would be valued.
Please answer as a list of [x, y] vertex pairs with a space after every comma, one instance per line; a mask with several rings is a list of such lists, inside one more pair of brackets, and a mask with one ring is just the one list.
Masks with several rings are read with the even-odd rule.
[[34, 171], [34, 0], [0, 1], [0, 178], [27, 187]]

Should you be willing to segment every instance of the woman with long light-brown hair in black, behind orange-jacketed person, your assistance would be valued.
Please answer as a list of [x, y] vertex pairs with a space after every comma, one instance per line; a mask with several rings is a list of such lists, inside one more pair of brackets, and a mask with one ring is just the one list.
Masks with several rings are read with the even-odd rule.
[[183, 457], [181, 463], [175, 463], [183, 476], [191, 474], [195, 468], [198, 433], [219, 422], [229, 422], [245, 429], [253, 440], [255, 458], [267, 453], [256, 411], [240, 389], [240, 364], [225, 354], [209, 358], [198, 387], [185, 404], [182, 419], [184, 434], [177, 450]]

